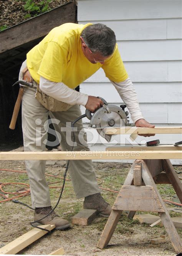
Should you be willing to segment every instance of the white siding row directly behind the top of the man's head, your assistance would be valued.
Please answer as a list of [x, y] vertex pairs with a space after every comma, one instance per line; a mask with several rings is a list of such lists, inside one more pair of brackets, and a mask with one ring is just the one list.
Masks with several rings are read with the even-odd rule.
[[[181, 39], [182, 19], [89, 20], [79, 24], [103, 23], [119, 40]], [[174, 29], [175, 28], [175, 29]]]

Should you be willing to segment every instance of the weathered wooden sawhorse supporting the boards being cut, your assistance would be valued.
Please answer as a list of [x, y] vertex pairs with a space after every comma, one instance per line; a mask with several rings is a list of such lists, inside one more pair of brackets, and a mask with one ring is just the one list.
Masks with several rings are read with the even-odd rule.
[[132, 218], [136, 211], [159, 212], [170, 241], [177, 253], [182, 252], [182, 241], [170, 219], [156, 184], [171, 184], [182, 203], [182, 183], [170, 161], [160, 159], [135, 160], [112, 207], [111, 215], [98, 242], [106, 247], [113, 235], [122, 211]]

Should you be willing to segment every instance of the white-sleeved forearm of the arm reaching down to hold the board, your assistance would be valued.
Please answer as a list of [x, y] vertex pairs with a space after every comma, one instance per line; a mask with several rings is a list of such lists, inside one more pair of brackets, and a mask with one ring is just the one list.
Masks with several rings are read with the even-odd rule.
[[116, 83], [114, 81], [111, 81], [111, 83], [114, 85], [117, 92], [129, 109], [132, 121], [135, 123], [139, 119], [144, 119], [141, 109], [139, 107], [138, 97], [132, 81], [127, 78], [123, 82]]

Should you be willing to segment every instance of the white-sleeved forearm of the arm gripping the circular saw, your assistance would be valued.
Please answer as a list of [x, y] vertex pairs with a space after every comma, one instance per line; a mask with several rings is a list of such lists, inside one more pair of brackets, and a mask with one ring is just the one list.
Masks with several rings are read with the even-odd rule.
[[75, 91], [63, 83], [56, 83], [40, 77], [40, 89], [43, 93], [59, 101], [75, 105], [85, 106], [88, 101], [88, 95]]

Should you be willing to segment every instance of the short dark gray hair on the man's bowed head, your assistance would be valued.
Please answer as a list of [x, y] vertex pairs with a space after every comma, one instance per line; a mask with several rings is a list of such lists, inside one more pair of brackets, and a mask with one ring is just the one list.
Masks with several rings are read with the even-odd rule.
[[89, 25], [82, 31], [81, 37], [92, 52], [100, 53], [104, 57], [114, 52], [116, 35], [104, 24]]

